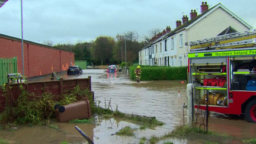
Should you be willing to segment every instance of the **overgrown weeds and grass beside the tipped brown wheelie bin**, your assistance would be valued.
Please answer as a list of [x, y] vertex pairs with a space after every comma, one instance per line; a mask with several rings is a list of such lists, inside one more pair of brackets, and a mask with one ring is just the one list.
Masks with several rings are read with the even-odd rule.
[[[5, 87], [2, 87], [6, 92]], [[44, 93], [41, 96], [29, 94], [23, 85], [20, 85], [21, 95], [16, 101], [6, 96], [6, 109], [0, 115], [0, 123], [6, 127], [10, 124], [41, 124], [49, 125], [50, 119], [55, 118], [55, 104], [66, 105], [79, 100], [89, 100], [92, 113], [95, 112], [93, 94], [89, 89], [81, 90], [79, 86], [69, 94], [53, 95]]]

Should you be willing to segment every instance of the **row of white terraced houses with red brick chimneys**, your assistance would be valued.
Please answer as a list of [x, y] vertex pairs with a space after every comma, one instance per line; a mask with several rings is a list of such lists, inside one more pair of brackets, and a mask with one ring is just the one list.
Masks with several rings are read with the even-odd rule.
[[151, 43], [139, 52], [139, 65], [187, 66], [187, 53], [190, 47], [185, 43], [236, 31], [251, 30], [252, 27], [222, 4], [209, 8], [201, 3], [201, 14], [194, 9], [190, 18], [183, 15], [176, 21], [176, 28], [166, 30], [153, 37]]

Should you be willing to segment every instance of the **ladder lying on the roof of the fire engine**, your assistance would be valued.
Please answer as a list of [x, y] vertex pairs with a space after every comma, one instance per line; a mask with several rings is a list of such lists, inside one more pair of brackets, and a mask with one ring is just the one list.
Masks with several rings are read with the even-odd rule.
[[216, 49], [216, 48], [236, 48], [248, 47], [255, 45], [256, 31], [248, 30], [231, 34], [224, 34], [222, 36], [190, 41], [186, 45], [190, 46], [191, 50], [200, 49]]

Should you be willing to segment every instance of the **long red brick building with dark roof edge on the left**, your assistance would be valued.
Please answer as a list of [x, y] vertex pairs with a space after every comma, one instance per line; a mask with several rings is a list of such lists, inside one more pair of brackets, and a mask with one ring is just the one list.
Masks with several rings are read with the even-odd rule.
[[[27, 78], [66, 71], [75, 63], [75, 54], [56, 47], [23, 40], [24, 74]], [[17, 57], [18, 73], [23, 73], [21, 39], [0, 34], [0, 58]]]

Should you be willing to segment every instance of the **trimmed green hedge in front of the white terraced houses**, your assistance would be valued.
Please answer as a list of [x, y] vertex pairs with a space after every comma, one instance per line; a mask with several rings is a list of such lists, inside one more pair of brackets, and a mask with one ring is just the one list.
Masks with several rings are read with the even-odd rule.
[[[136, 66], [130, 66], [130, 78], [135, 79]], [[187, 66], [169, 67], [169, 66], [141, 66], [142, 81], [154, 80], [184, 80], [187, 79]]]

